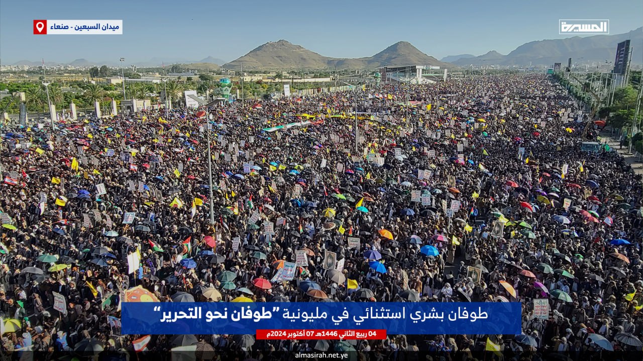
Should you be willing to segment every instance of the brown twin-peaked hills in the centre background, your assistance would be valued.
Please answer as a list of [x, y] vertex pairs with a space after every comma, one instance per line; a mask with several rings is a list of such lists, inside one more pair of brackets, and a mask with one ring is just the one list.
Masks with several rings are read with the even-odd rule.
[[365, 58], [331, 58], [314, 53], [302, 46], [291, 44], [286, 40], [267, 42], [250, 51], [243, 57], [224, 64], [226, 69], [240, 69], [241, 64], [248, 69], [361, 69], [381, 66], [414, 66], [432, 65], [453, 67], [440, 62], [419, 51], [410, 42], [396, 42], [372, 57]]

